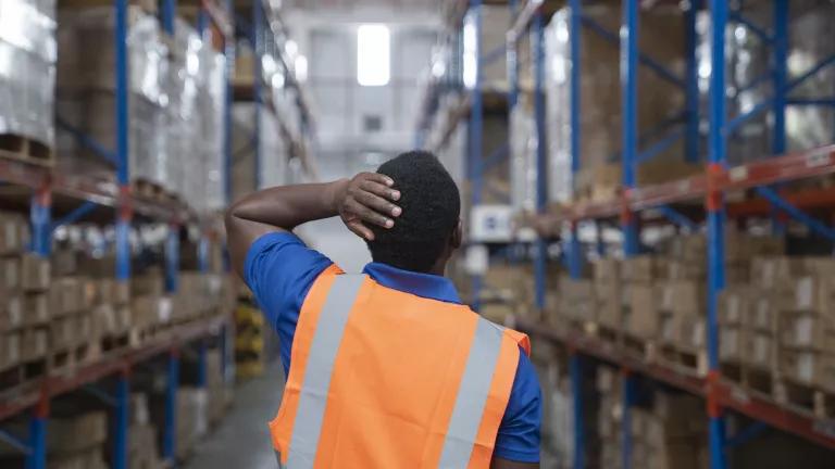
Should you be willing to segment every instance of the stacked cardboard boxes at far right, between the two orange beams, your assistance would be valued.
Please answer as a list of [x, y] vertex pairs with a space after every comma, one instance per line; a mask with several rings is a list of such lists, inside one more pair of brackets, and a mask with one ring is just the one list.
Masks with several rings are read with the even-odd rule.
[[720, 301], [721, 358], [738, 369], [731, 378], [783, 400], [792, 384], [835, 393], [834, 275], [830, 257], [756, 258], [751, 283]]

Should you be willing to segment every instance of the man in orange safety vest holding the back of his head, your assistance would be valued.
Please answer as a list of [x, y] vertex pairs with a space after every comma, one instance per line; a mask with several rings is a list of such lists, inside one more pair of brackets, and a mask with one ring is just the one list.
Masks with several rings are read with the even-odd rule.
[[[376, 174], [266, 189], [229, 208], [234, 267], [288, 370], [270, 423], [279, 467], [539, 467], [527, 338], [479, 318], [444, 278], [460, 204], [438, 160], [410, 152]], [[367, 243], [363, 275], [291, 233], [337, 215]]]

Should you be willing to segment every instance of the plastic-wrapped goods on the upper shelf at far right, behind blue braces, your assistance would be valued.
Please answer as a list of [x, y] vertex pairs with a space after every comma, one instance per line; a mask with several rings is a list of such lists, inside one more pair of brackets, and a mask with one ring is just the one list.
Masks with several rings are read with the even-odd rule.
[[[769, 29], [773, 23], [771, 2], [745, 4], [743, 13], [751, 22]], [[826, 58], [835, 54], [835, 29], [830, 18], [835, 15], [835, 3], [823, 0], [789, 2], [788, 80], [802, 76]], [[699, 69], [710, 71], [710, 16], [701, 14], [698, 29], [701, 41], [698, 49]], [[746, 27], [730, 23], [725, 31], [728, 115], [744, 114], [771, 99], [773, 81], [761, 79], [770, 74], [772, 47]], [[700, 75], [702, 115], [708, 111], [710, 75]], [[759, 83], [757, 86], [750, 84]], [[835, 69], [826, 67], [790, 92], [792, 98], [830, 98], [835, 92]], [[761, 113], [748, 121], [728, 139], [727, 157], [731, 164], [763, 159], [773, 153], [773, 118]], [[835, 110], [832, 106], [792, 105], [786, 109], [786, 151], [797, 151], [832, 142], [835, 138]]]

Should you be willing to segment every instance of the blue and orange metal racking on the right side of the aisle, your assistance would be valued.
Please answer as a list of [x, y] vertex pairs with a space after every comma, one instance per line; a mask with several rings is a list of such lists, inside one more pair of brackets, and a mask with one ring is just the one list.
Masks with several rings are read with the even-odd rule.
[[[495, 2], [494, 2], [495, 3]], [[541, 1], [529, 0], [521, 9], [516, 8], [515, 1], [501, 2], [507, 4], [514, 12], [516, 21], [509, 30], [509, 39], [518, 37], [524, 30], [531, 30], [534, 38], [534, 67], [536, 68], [536, 124], [537, 132], [541, 137], [547, 134], [545, 129], [545, 119], [540, 115], [540, 101], [544, 96], [539, 93], [540, 67], [543, 66], [543, 56], [540, 55], [541, 36], [541, 13], [537, 13], [543, 8]], [[549, 3], [549, 2], [545, 2]], [[772, 215], [774, 226], [781, 229], [782, 220], [785, 217], [794, 218], [803, 224], [811, 232], [822, 236], [826, 239], [835, 239], [835, 230], [819, 219], [806, 215], [803, 208], [820, 208], [835, 206], [835, 192], [832, 189], [802, 189], [795, 192], [786, 192], [775, 189], [775, 185], [781, 182], [797, 181], [803, 178], [823, 176], [835, 173], [835, 145], [821, 147], [786, 154], [786, 107], [789, 105], [835, 105], [832, 99], [794, 99], [790, 97], [792, 90], [807, 80], [809, 77], [819, 73], [821, 69], [835, 64], [835, 58], [826, 58], [822, 62], [811, 66], [808, 72], [794, 80], [788, 80], [787, 74], [787, 49], [788, 49], [788, 1], [773, 0], [773, 24], [770, 27], [761, 27], [748, 20], [743, 12], [730, 11], [727, 2], [711, 1], [705, 2], [694, 0], [688, 2], [683, 12], [686, 24], [686, 67], [685, 76], [680, 77], [673, 72], [666, 69], [663, 64], [658, 63], [652, 58], [641, 53], [638, 50], [639, 22], [638, 0], [622, 0], [623, 21], [621, 24], [620, 39], [618, 33], [608, 31], [601, 25], [596, 24], [593, 18], [583, 14], [584, 2], [582, 0], [566, 0], [564, 2], [552, 2], [560, 5], [566, 5], [570, 12], [570, 51], [573, 64], [582, 61], [581, 56], [581, 28], [589, 28], [591, 31], [601, 35], [614, 43], [620, 43], [621, 48], [621, 85], [622, 85], [622, 110], [623, 110], [623, 151], [620, 155], [623, 165], [622, 191], [620, 194], [609, 201], [579, 203], [569, 206], [551, 207], [546, 210], [545, 200], [545, 148], [544, 139], [539, 139], [537, 149], [537, 163], [539, 168], [537, 183], [537, 208], [540, 212], [539, 221], [545, 227], [541, 230], [543, 236], [559, 237], [569, 233], [564, 239], [564, 255], [566, 265], [572, 277], [578, 278], [583, 268], [584, 248], [579, 242], [577, 226], [579, 223], [601, 220], [618, 220], [623, 232], [623, 252], [625, 256], [632, 256], [639, 253], [639, 229], [640, 218], [652, 211], [666, 219], [666, 223], [683, 225], [687, 227], [697, 226], [687, 216], [683, 215], [676, 205], [686, 204], [689, 210], [694, 206], [703, 210], [709, 243], [709, 265], [708, 265], [708, 310], [707, 313], [707, 338], [708, 338], [708, 362], [709, 372], [707, 377], [699, 378], [683, 373], [680, 370], [665, 366], [647, 364], [641, 360], [633, 359], [626, 356], [622, 350], [613, 344], [598, 341], [588, 337], [576, 337], [556, 330], [549, 326], [539, 322], [516, 318], [515, 327], [527, 331], [534, 335], [564, 345], [570, 353], [570, 378], [572, 381], [572, 394], [574, 401], [574, 467], [582, 469], [586, 466], [585, 460], [585, 429], [583, 426], [583, 373], [588, 358], [595, 358], [615, 367], [619, 367], [624, 377], [623, 393], [623, 467], [631, 467], [631, 422], [628, 409], [634, 403], [635, 376], [648, 377], [657, 382], [665, 383], [706, 398], [706, 414], [709, 419], [709, 449], [710, 466], [712, 469], [722, 469], [726, 467], [725, 449], [745, 441], [743, 434], [756, 434], [756, 429], [762, 428], [762, 423], [778, 428], [789, 433], [805, 438], [811, 442], [825, 447], [835, 448], [835, 422], [818, 418], [811, 413], [802, 411], [794, 407], [788, 407], [777, 403], [767, 396], [753, 395], [733, 383], [724, 380], [719, 367], [719, 325], [716, 319], [718, 296], [724, 289], [724, 225], [728, 217], [749, 217]], [[709, 4], [707, 4], [709, 3]], [[450, 25], [459, 25], [464, 12], [474, 11], [477, 14], [482, 2], [471, 0], [448, 2], [446, 9], [451, 14]], [[689, 162], [700, 161], [700, 131], [699, 123], [699, 90], [698, 90], [698, 69], [696, 63], [697, 30], [696, 17], [700, 10], [707, 10], [710, 14], [713, 25], [711, 35], [711, 81], [709, 90], [709, 132], [707, 136], [707, 165], [703, 174], [687, 177], [671, 182], [656, 186], [638, 187], [636, 185], [634, 168], [636, 163], [650, 159], [652, 155], [669, 148], [680, 139], [685, 140], [685, 155]], [[771, 81], [773, 89], [776, 90], [773, 96], [764, 102], [751, 106], [746, 113], [728, 118], [726, 111], [726, 89], [725, 89], [725, 29], [730, 22], [734, 22], [757, 35], [772, 48], [773, 69], [755, 80], [746, 88], [753, 87], [764, 81]], [[509, 42], [512, 43], [512, 40]], [[481, 56], [484, 58], [482, 54]], [[516, 63], [515, 53], [512, 47], [508, 48], [508, 66], [510, 76], [510, 105], [515, 103], [515, 93], [518, 92]], [[650, 134], [660, 135], [661, 138], [656, 142], [638, 148], [638, 128], [637, 128], [637, 102], [639, 91], [637, 89], [637, 71], [639, 66], [647, 66], [663, 79], [675, 84], [685, 96], [686, 109], [681, 113], [680, 118], [663, 123], [660, 128], [653, 129]], [[581, 67], [571, 67], [571, 167], [576, 175], [581, 166], [581, 92], [579, 84], [582, 80]], [[432, 93], [427, 93], [432, 97]], [[481, 142], [481, 122], [482, 112], [482, 90], [476, 86], [471, 90], [469, 102], [462, 104], [463, 111], [456, 113], [462, 121], [470, 113], [470, 151], [466, 155], [466, 172], [469, 181], [473, 187], [479, 187], [481, 177], [477, 170], [482, 149], [473, 142]], [[424, 105], [424, 116], [419, 127], [419, 142], [421, 131], [428, 127], [428, 122], [434, 118], [435, 109], [432, 105]], [[774, 136], [771, 142], [772, 155], [763, 160], [744, 164], [736, 167], [727, 165], [727, 139], [751, 118], [770, 112], [773, 118]], [[449, 126], [454, 128], [459, 119], [450, 121]], [[678, 127], [678, 128], [676, 128]], [[439, 145], [446, 142], [448, 135], [452, 129], [445, 129]], [[778, 186], [776, 186], [778, 188]], [[725, 194], [731, 191], [751, 190], [757, 194], [757, 199], [745, 200], [741, 202], [726, 202]], [[477, 200], [476, 202], [477, 203]], [[774, 216], [777, 214], [777, 216]], [[599, 227], [599, 225], [598, 225]], [[599, 228], [598, 228], [599, 232]], [[541, 238], [537, 241], [539, 246], [545, 245], [546, 240]], [[599, 249], [598, 253], [602, 253]], [[536, 268], [536, 304], [541, 308], [544, 302], [541, 294], [545, 286], [545, 255], [535, 256]], [[724, 416], [726, 410], [734, 410], [760, 422], [750, 429], [740, 431], [739, 438], [727, 438], [724, 428]]]

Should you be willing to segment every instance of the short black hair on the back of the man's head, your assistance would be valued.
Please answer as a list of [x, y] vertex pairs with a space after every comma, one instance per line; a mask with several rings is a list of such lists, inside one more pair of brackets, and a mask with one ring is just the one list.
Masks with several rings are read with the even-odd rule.
[[390, 229], [372, 227], [369, 250], [374, 262], [404, 270], [432, 270], [461, 215], [458, 186], [438, 159], [411, 151], [383, 163], [377, 173], [394, 179], [403, 210]]

